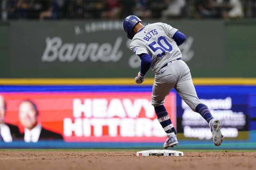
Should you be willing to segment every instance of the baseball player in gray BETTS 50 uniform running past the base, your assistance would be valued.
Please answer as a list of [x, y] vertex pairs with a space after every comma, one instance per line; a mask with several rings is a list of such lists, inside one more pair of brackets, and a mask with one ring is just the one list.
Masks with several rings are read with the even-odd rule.
[[197, 97], [190, 70], [182, 61], [180, 46], [186, 37], [176, 28], [164, 23], [143, 26], [140, 18], [130, 15], [124, 19], [124, 31], [132, 40], [131, 50], [140, 57], [140, 72], [135, 82], [141, 84], [149, 68], [155, 73], [151, 103], [155, 108], [157, 119], [167, 133], [164, 148], [177, 146], [176, 130], [164, 107], [164, 99], [172, 88], [195, 112], [199, 113], [208, 123], [212, 131], [213, 143], [220, 146], [223, 141], [220, 120], [214, 119], [208, 107]]

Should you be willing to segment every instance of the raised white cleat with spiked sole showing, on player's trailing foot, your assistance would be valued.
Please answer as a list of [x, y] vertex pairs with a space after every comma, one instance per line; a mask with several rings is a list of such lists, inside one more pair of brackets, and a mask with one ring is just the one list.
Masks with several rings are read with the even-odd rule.
[[212, 138], [213, 138], [214, 145], [220, 146], [223, 141], [223, 137], [224, 137], [220, 130], [221, 129], [220, 120], [212, 119], [209, 122], [209, 127], [211, 128], [211, 131], [212, 131]]

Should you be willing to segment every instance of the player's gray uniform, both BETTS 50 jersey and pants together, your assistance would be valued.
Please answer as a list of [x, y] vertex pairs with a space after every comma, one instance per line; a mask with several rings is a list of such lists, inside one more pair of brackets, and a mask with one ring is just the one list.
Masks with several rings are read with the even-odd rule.
[[195, 111], [196, 106], [202, 102], [197, 97], [187, 64], [177, 60], [182, 57], [172, 39], [177, 31], [164, 23], [149, 24], [134, 35], [130, 48], [137, 55], [148, 53], [152, 58], [151, 69], [155, 73], [151, 96], [153, 106], [163, 105], [165, 97], [175, 88]]

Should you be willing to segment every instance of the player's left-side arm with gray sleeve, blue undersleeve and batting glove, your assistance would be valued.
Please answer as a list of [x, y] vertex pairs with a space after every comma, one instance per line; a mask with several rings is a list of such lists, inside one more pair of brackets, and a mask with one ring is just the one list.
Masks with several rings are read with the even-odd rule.
[[147, 50], [136, 43], [130, 44], [131, 50], [140, 57], [140, 72], [135, 77], [135, 82], [137, 84], [141, 84], [145, 80], [145, 75], [147, 71], [150, 69], [152, 58], [148, 54]]

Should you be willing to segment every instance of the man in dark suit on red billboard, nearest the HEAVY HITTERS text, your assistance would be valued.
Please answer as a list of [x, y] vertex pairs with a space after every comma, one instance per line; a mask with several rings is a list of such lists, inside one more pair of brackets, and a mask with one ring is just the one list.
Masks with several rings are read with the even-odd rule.
[[20, 103], [19, 118], [24, 127], [25, 142], [36, 143], [41, 139], [63, 139], [62, 135], [46, 130], [38, 123], [38, 110], [31, 100], [24, 100]]

